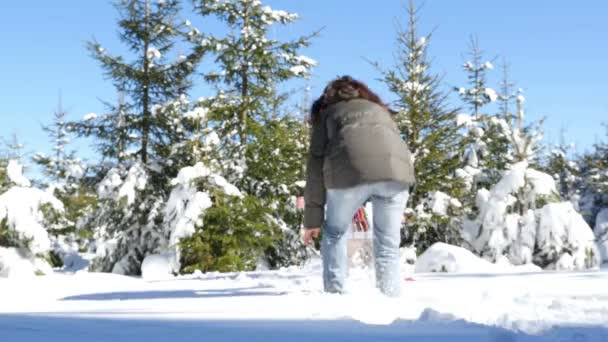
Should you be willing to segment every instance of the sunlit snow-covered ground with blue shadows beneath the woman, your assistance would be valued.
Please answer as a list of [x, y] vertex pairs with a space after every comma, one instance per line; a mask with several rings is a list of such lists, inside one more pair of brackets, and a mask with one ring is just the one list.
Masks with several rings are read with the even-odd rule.
[[608, 269], [417, 273], [389, 299], [355, 269], [349, 293], [303, 268], [146, 281], [0, 278], [1, 341], [608, 341]]

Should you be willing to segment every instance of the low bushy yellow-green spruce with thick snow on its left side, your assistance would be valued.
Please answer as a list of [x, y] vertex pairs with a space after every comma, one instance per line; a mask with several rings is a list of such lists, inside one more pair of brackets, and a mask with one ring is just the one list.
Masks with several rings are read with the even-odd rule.
[[172, 184], [165, 224], [182, 272], [255, 269], [272, 243], [271, 210], [202, 162], [183, 168]]

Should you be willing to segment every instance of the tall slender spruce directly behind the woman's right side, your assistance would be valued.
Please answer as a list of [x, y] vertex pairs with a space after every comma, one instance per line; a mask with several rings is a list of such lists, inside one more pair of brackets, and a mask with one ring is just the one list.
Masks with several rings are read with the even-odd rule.
[[395, 116], [414, 158], [416, 185], [407, 209], [403, 243], [423, 251], [435, 242], [459, 244], [460, 201], [463, 183], [455, 177], [463, 154], [455, 109], [449, 108], [441, 79], [429, 70], [431, 35], [417, 32], [414, 1], [408, 27], [397, 33], [396, 65], [384, 69], [383, 81], [397, 97]]

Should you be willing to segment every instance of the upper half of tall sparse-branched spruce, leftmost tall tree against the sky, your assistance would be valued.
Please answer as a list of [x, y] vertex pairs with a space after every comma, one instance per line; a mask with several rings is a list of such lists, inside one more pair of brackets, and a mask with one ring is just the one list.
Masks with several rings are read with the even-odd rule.
[[181, 3], [118, 0], [119, 35], [129, 54], [113, 55], [97, 41], [88, 44], [119, 91], [120, 100], [117, 105], [106, 103], [108, 114], [91, 113], [74, 128], [79, 136], [98, 138], [106, 159], [130, 162], [140, 158], [144, 163], [161, 164], [167, 160], [165, 146], [183, 137], [175, 113], [161, 111], [160, 106], [188, 92], [194, 70], [207, 50], [189, 41], [200, 33], [193, 33], [191, 24], [180, 18]]

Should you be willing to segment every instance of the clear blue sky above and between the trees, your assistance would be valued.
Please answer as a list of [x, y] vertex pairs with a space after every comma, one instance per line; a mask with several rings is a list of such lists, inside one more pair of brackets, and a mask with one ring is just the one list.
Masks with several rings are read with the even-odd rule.
[[[302, 17], [277, 33], [280, 36], [324, 27], [304, 51], [319, 61], [310, 81], [313, 96], [332, 77], [352, 74], [391, 99], [365, 58], [393, 63], [395, 19], [403, 19], [404, 1], [266, 2]], [[547, 141], [558, 142], [565, 129], [567, 140], [582, 152], [605, 138], [601, 123], [608, 121], [608, 1], [427, 0], [421, 14], [421, 32], [434, 32], [433, 70], [445, 74], [446, 87], [465, 83], [461, 65], [469, 37], [475, 34], [488, 59], [498, 57], [496, 65], [507, 59], [512, 78], [526, 91], [528, 118], [546, 117]], [[206, 29], [194, 14], [185, 17]], [[3, 2], [0, 137], [14, 132], [28, 151], [50, 152], [40, 126], [50, 121], [59, 90], [69, 118], [103, 112], [99, 99], [113, 100], [114, 89], [84, 44], [95, 37], [109, 51], [123, 51], [115, 20], [115, 10], [106, 0]], [[500, 75], [495, 70], [490, 85], [498, 87]], [[202, 92], [199, 87], [192, 95]], [[460, 104], [456, 99], [454, 103]]]

